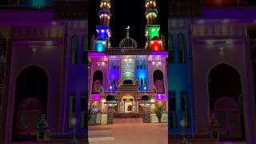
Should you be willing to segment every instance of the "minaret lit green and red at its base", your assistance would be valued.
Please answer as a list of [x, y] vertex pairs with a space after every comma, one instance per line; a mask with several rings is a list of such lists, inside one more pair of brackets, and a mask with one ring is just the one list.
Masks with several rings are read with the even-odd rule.
[[160, 51], [164, 47], [164, 38], [159, 37], [160, 25], [157, 23], [158, 10], [156, 10], [157, 3], [155, 0], [146, 0], [146, 48], [150, 50]]

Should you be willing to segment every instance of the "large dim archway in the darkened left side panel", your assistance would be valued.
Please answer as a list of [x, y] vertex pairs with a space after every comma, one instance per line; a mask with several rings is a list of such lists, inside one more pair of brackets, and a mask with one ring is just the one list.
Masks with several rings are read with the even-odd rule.
[[29, 66], [16, 79], [13, 140], [34, 141], [41, 114], [46, 114], [48, 76], [39, 66]]

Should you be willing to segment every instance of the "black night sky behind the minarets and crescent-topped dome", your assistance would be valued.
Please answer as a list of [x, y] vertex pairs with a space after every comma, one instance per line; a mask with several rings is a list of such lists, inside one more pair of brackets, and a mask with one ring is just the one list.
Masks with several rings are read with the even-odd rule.
[[[90, 0], [89, 5], [89, 36], [96, 36], [96, 28], [99, 24], [98, 10], [101, 0]], [[113, 47], [118, 47], [122, 38], [126, 38], [126, 26], [130, 26], [130, 38], [138, 43], [138, 48], [144, 48], [146, 42], [146, 0], [111, 0], [110, 30], [112, 32], [110, 42]], [[161, 25], [160, 33], [167, 38], [167, 1], [157, 0], [158, 24]]]

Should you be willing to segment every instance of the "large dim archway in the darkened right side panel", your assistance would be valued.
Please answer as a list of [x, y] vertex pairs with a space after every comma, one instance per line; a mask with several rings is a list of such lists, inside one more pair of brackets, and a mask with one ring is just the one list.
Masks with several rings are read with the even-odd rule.
[[214, 112], [221, 124], [222, 139], [245, 139], [240, 79], [238, 71], [226, 64], [215, 66], [208, 76], [210, 112]]

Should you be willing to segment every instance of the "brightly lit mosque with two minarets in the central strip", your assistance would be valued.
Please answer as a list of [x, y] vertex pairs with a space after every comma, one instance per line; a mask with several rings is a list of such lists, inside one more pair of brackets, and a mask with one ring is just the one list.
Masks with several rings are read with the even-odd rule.
[[[114, 95], [116, 102], [114, 117], [130, 118], [142, 116], [143, 95], [149, 95], [151, 112], [154, 106], [163, 106], [168, 110], [167, 57], [165, 38], [159, 34], [157, 23], [158, 10], [154, 0], [147, 0], [146, 6], [146, 46], [138, 47], [136, 40], [130, 36], [127, 26], [126, 38], [119, 46], [111, 46], [110, 6], [109, 0], [102, 0], [98, 35], [91, 39], [89, 58], [89, 102], [106, 114], [106, 96]], [[112, 27], [114, 29], [114, 27]], [[136, 32], [132, 32], [136, 34]], [[103, 118], [103, 117], [102, 117]], [[167, 117], [166, 117], [167, 121]], [[104, 123], [104, 120], [102, 119]], [[106, 120], [105, 120], [106, 122]]]

